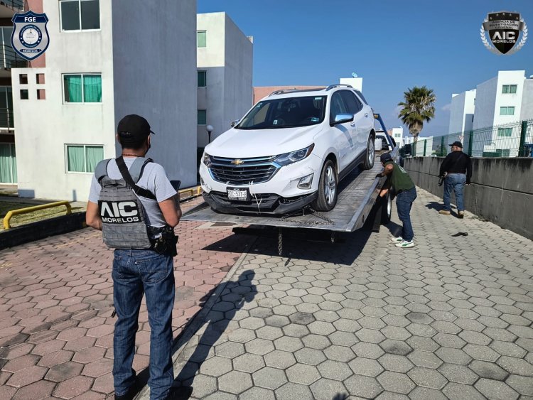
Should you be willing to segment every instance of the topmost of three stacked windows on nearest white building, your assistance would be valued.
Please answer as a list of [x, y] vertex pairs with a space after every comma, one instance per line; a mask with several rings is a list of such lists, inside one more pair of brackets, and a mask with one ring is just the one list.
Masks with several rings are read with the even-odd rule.
[[59, 3], [62, 31], [100, 28], [99, 0], [60, 0]]

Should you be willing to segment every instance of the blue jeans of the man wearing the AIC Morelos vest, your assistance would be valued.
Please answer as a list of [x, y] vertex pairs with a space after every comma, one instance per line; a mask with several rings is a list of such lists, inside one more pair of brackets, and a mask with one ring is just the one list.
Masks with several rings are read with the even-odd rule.
[[112, 278], [114, 308], [117, 310], [113, 337], [115, 394], [126, 394], [135, 382], [131, 364], [144, 292], [151, 329], [150, 399], [165, 399], [174, 380], [171, 358], [175, 294], [173, 259], [152, 250], [116, 249]]

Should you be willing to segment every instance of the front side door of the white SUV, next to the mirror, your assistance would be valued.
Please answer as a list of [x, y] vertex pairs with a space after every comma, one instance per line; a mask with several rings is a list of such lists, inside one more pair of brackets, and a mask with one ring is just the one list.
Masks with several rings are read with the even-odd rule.
[[[331, 96], [330, 104], [330, 124], [335, 121], [335, 116], [338, 114], [350, 114], [348, 106], [345, 104], [340, 91], [335, 92]], [[351, 154], [355, 148], [355, 141], [353, 141], [352, 122], [345, 122], [344, 124], [336, 124], [331, 127], [330, 131], [333, 135], [333, 146], [337, 148], [339, 154], [340, 171], [343, 171], [352, 160]], [[338, 172], [340, 172], [338, 171]]]

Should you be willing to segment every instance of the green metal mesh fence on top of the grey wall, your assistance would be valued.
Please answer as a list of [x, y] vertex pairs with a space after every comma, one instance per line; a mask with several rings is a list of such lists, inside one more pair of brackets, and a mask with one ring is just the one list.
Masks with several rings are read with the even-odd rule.
[[454, 141], [472, 157], [533, 157], [533, 119], [431, 138], [402, 148], [404, 155], [446, 156]]

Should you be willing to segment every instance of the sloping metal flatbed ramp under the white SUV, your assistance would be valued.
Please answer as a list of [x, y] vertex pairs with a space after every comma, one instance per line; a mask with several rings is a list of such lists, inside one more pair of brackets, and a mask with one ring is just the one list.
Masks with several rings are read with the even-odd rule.
[[204, 202], [185, 212], [181, 220], [353, 232], [365, 224], [372, 210], [379, 188], [384, 183], [384, 178], [376, 179], [376, 174], [381, 171], [382, 166], [379, 157], [376, 157], [374, 167], [370, 170], [364, 171], [360, 167], [355, 168], [340, 181], [337, 205], [328, 212], [315, 212], [306, 208], [283, 216], [232, 215], [215, 212]]

